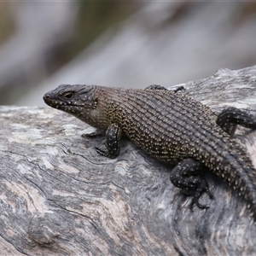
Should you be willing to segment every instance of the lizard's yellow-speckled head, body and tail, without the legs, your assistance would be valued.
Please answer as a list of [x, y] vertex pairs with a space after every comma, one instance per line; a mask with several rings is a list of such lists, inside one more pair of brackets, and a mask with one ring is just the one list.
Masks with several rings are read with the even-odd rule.
[[255, 218], [256, 172], [251, 160], [217, 125], [217, 115], [201, 102], [170, 90], [82, 84], [61, 84], [44, 101], [96, 128], [107, 130], [116, 124], [119, 134], [122, 131], [158, 160], [172, 164], [187, 158], [199, 161], [243, 196]]

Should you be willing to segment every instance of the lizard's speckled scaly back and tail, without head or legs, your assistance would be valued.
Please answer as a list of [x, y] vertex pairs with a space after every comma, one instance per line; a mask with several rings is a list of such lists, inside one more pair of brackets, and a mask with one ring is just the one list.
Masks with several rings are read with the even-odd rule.
[[217, 115], [210, 108], [168, 90], [113, 89], [109, 100], [115, 108], [109, 119], [132, 142], [172, 164], [186, 158], [198, 160], [238, 190], [255, 216], [253, 164], [244, 148], [216, 124]]

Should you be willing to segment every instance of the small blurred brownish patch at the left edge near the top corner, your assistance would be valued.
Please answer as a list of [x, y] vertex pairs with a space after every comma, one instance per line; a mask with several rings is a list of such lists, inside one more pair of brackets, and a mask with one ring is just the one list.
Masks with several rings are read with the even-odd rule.
[[0, 2], [0, 44], [3, 44], [14, 31], [15, 26], [8, 2]]

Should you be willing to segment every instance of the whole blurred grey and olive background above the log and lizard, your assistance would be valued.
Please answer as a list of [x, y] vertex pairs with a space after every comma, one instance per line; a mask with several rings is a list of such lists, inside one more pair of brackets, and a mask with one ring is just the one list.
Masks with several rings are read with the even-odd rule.
[[1, 2], [0, 104], [62, 83], [170, 86], [256, 64], [253, 2]]

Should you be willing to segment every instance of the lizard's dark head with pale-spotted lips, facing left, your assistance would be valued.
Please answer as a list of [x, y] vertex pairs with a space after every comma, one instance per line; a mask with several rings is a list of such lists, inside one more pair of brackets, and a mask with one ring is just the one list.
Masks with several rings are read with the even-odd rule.
[[100, 86], [61, 84], [44, 95], [44, 102], [52, 108], [71, 113], [85, 123], [97, 127], [99, 120], [102, 122], [104, 119], [97, 110], [98, 87]]

